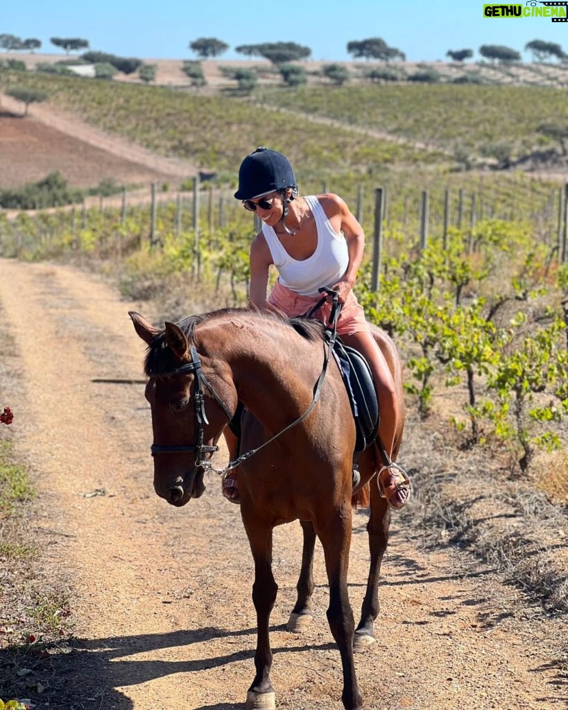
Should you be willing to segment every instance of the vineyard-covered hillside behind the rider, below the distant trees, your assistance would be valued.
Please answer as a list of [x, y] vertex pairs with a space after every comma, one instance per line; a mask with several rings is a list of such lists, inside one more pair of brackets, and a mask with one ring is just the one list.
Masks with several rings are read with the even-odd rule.
[[[30, 68], [59, 58], [22, 56]], [[265, 62], [256, 91], [243, 94], [227, 86], [224, 62], [203, 66], [209, 83], [200, 89], [187, 86], [181, 62], [175, 60], [158, 62], [163, 85], [157, 86], [142, 86], [136, 77], [124, 75], [100, 81], [0, 72], [1, 91], [27, 87], [49, 97], [32, 104], [26, 121], [15, 119], [23, 104], [4, 97], [8, 110], [2, 117], [5, 169], [0, 185], [39, 180], [48, 168], [80, 186], [97, 185], [104, 178], [124, 185], [158, 181], [177, 186], [197, 170], [214, 171], [221, 181], [232, 182], [242, 156], [263, 144], [287, 153], [299, 166], [302, 185], [310, 183], [317, 190], [322, 182], [338, 191], [345, 184], [373, 189], [382, 183], [402, 198], [418, 185], [442, 189], [451, 183], [469, 189], [464, 182], [472, 182], [472, 170], [488, 173], [491, 168], [500, 168], [503, 176], [503, 168], [515, 168], [564, 180], [559, 146], [538, 131], [541, 123], [567, 113], [562, 89], [361, 80], [335, 87], [315, 75], [310, 75], [310, 87], [289, 88], [278, 85]], [[364, 66], [349, 63], [352, 72]], [[306, 67], [317, 69], [315, 62]], [[510, 70], [521, 68], [529, 70], [528, 65]], [[535, 105], [538, 112], [532, 110]], [[59, 133], [45, 133], [45, 127]], [[104, 153], [92, 154], [93, 149]], [[465, 180], [457, 179], [460, 172]]]

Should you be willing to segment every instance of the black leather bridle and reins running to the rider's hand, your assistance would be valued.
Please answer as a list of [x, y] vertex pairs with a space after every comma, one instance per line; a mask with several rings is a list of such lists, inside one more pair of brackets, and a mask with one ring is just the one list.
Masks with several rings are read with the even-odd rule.
[[[209, 424], [209, 421], [207, 420], [207, 415], [205, 414], [205, 403], [204, 403], [204, 394], [203, 394], [203, 387], [202, 385], [206, 386], [209, 392], [212, 394], [214, 400], [219, 404], [219, 406], [222, 408], [224, 411], [226, 417], [230, 421], [233, 418], [234, 413], [231, 413], [231, 410], [226, 406], [226, 404], [223, 402], [223, 400], [219, 397], [217, 392], [215, 392], [212, 384], [207, 380], [207, 378], [203, 374], [203, 368], [201, 365], [200, 361], [200, 356], [197, 353], [197, 350], [195, 349], [195, 346], [192, 345], [190, 348], [190, 354], [191, 354], [191, 361], [178, 367], [175, 368], [175, 370], [172, 370], [168, 372], [167, 376], [172, 377], [172, 376], [178, 376], [178, 375], [186, 375], [189, 373], [194, 373], [195, 374], [195, 394], [193, 397], [193, 407], [194, 407], [194, 412], [195, 412], [195, 444], [174, 444], [173, 446], [160, 446], [158, 444], [152, 444], [150, 447], [152, 456], [155, 456], [155, 454], [178, 454], [182, 452], [197, 452], [195, 456], [195, 466], [199, 467], [202, 466], [204, 469], [213, 469], [214, 471], [217, 471], [218, 474], [226, 474], [227, 471], [231, 471], [231, 469], [235, 469], [236, 466], [239, 466], [243, 461], [246, 461], [246, 459], [249, 459], [251, 456], [259, 452], [261, 449], [264, 447], [268, 446], [271, 442], [274, 441], [274, 439], [277, 439], [278, 437], [282, 436], [285, 432], [288, 432], [290, 429], [295, 427], [297, 424], [300, 424], [302, 420], [307, 417], [307, 415], [310, 414], [312, 409], [315, 406], [315, 403], [317, 400], [320, 398], [320, 392], [322, 391], [322, 386], [324, 383], [325, 379], [325, 374], [327, 372], [327, 364], [329, 363], [329, 357], [332, 354], [333, 346], [335, 339], [337, 337], [337, 320], [339, 319], [339, 313], [341, 312], [341, 307], [342, 304], [339, 303], [338, 300], [338, 293], [337, 291], [334, 291], [332, 289], [327, 289], [327, 288], [320, 288], [320, 293], [325, 293], [324, 297], [317, 302], [315, 307], [312, 308], [308, 315], [308, 317], [311, 317], [318, 308], [322, 307], [324, 303], [327, 300], [327, 296], [330, 295], [332, 296], [332, 312], [329, 316], [329, 321], [331, 324], [331, 334], [329, 335], [329, 339], [327, 342], [327, 352], [325, 354], [324, 358], [324, 364], [322, 367], [322, 372], [320, 373], [320, 377], [317, 379], [317, 383], [315, 384], [314, 387], [314, 395], [312, 398], [312, 403], [310, 406], [305, 410], [305, 412], [297, 417], [296, 420], [291, 422], [287, 427], [284, 427], [283, 430], [280, 430], [278, 434], [275, 434], [271, 439], [268, 439], [268, 441], [264, 442], [261, 444], [261, 446], [257, 447], [256, 449], [251, 449], [250, 451], [246, 452], [246, 454], [242, 454], [239, 456], [238, 459], [235, 459], [234, 461], [230, 461], [229, 464], [226, 466], [225, 469], [213, 469], [212, 464], [208, 459], [205, 459], [206, 454], [214, 454], [214, 452], [219, 451], [218, 446], [205, 446], [203, 443], [204, 439], [204, 429], [203, 425], [204, 424]], [[210, 458], [210, 457], [209, 457]]]

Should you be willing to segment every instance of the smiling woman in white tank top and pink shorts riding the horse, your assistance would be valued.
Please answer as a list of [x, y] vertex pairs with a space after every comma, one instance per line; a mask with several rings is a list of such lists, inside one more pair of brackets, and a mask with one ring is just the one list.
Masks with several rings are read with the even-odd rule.
[[[400, 419], [395, 383], [352, 290], [365, 244], [361, 225], [338, 195], [300, 197], [288, 158], [267, 148], [257, 148], [241, 163], [235, 197], [263, 222], [251, 245], [251, 306], [299, 316], [320, 300], [319, 288], [337, 291], [342, 303], [337, 334], [371, 367], [381, 413], [378, 438], [390, 459]], [[267, 301], [271, 264], [279, 277]], [[315, 317], [327, 322], [329, 304]], [[236, 439], [229, 432], [226, 439], [233, 454]], [[410, 481], [400, 466], [383, 466], [378, 486], [393, 508], [408, 501]], [[235, 472], [224, 478], [223, 494], [239, 502]]]

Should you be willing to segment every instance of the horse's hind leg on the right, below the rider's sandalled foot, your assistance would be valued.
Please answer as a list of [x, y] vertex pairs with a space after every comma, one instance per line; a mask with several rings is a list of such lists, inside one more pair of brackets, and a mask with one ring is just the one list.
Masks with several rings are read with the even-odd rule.
[[368, 547], [371, 552], [371, 567], [368, 572], [367, 590], [361, 605], [361, 621], [355, 630], [354, 650], [363, 651], [376, 643], [373, 622], [378, 616], [378, 577], [381, 574], [381, 562], [388, 544], [388, 528], [391, 523], [391, 511], [386, 498], [378, 493], [376, 479], [371, 481], [371, 517], [367, 523]]

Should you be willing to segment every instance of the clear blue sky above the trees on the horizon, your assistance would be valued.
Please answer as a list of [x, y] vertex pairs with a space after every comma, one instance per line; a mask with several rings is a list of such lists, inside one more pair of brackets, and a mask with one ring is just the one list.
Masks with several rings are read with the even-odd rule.
[[[0, 0], [0, 33], [82, 37], [90, 48], [140, 58], [188, 59], [190, 41], [217, 37], [237, 59], [240, 44], [294, 41], [315, 60], [349, 60], [350, 40], [382, 37], [410, 61], [444, 59], [447, 50], [500, 44], [523, 52], [533, 39], [568, 52], [568, 23], [550, 18], [488, 19], [483, 0]], [[524, 1], [523, 1], [524, 4]], [[540, 6], [540, 4], [539, 4]], [[523, 58], [529, 59], [523, 54]]]

